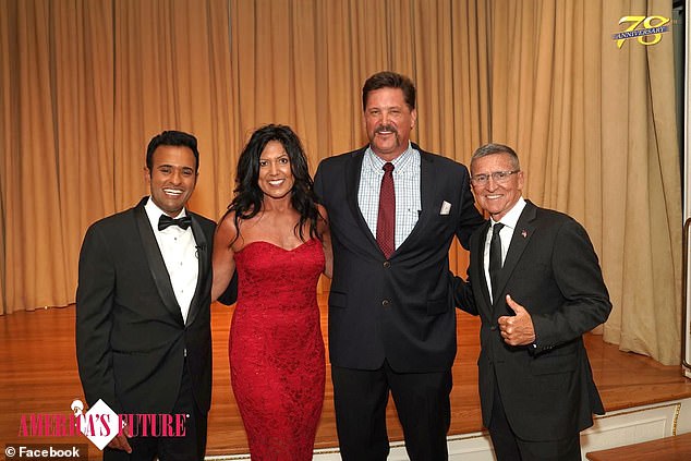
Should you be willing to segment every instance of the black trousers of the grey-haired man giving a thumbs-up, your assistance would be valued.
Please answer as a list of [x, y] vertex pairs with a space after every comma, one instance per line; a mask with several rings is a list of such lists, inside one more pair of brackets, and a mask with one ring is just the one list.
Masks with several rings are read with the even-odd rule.
[[560, 440], [529, 441], [519, 438], [507, 420], [496, 383], [488, 429], [497, 461], [581, 461], [578, 433]]

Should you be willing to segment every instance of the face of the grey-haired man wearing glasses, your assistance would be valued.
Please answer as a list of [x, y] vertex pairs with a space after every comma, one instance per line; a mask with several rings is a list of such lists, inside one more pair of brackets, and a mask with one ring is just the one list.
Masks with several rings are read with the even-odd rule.
[[521, 197], [523, 190], [523, 172], [508, 174], [497, 182], [492, 173], [499, 171], [514, 171], [511, 156], [499, 153], [474, 159], [470, 166], [471, 177], [486, 174], [488, 181], [484, 184], [472, 180], [473, 193], [480, 206], [489, 213], [495, 221], [499, 221]]

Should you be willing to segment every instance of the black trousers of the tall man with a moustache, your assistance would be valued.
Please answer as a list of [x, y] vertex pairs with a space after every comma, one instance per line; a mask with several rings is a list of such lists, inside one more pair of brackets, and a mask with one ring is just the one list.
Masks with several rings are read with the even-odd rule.
[[374, 371], [331, 366], [336, 427], [344, 461], [385, 461], [389, 454], [389, 391], [411, 461], [447, 460], [451, 371], [397, 373], [385, 361]]

